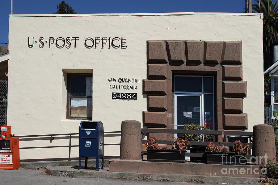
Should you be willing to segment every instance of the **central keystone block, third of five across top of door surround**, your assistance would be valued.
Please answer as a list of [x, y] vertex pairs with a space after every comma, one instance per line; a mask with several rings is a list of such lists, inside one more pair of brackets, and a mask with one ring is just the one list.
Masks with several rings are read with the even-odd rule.
[[187, 64], [202, 64], [204, 62], [204, 41], [186, 41], [185, 58]]

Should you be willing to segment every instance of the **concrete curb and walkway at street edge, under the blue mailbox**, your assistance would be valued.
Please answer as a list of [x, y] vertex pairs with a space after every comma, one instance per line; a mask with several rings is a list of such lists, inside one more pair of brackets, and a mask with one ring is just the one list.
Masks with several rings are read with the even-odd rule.
[[[85, 162], [82, 160], [82, 169], [78, 170], [78, 160], [74, 161], [46, 161], [46, 162], [21, 162], [22, 168], [47, 167], [46, 171], [50, 175], [69, 176], [69, 177], [101, 177], [119, 179], [155, 179], [170, 180], [177, 182], [205, 182], [205, 183], [258, 183], [260, 178], [246, 177], [225, 177], [207, 175], [176, 175], [176, 174], [155, 174], [155, 173], [130, 173], [130, 172], [109, 172], [109, 159], [104, 160], [104, 169], [101, 169], [99, 161], [99, 171], [95, 170], [95, 160], [88, 160], [88, 169], [84, 169]], [[178, 169], [177, 169], [178, 170]]]

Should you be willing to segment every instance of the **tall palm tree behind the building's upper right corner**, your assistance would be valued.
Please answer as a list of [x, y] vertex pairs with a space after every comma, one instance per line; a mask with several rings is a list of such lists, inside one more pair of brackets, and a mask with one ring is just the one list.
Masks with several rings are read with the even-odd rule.
[[[278, 6], [272, 0], [255, 0], [254, 13], [263, 13], [263, 50], [264, 54], [270, 54], [272, 42], [278, 40]], [[260, 3], [260, 5], [259, 5]], [[260, 10], [261, 9], [261, 10]]]

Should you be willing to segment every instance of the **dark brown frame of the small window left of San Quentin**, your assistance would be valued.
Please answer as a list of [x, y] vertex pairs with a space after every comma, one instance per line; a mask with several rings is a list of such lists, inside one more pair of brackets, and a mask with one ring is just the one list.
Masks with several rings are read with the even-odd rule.
[[92, 96], [72, 96], [70, 95], [70, 77], [92, 77], [93, 73], [67, 73], [67, 108], [66, 108], [66, 119], [81, 119], [81, 120], [93, 120], [92, 117], [80, 117], [70, 116], [70, 98], [93, 98]]

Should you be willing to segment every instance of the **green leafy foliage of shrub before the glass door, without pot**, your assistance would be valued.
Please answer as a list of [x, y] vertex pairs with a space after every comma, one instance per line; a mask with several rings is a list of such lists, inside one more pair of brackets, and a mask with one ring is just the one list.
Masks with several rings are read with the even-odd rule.
[[[184, 125], [184, 130], [210, 130], [210, 128], [195, 125], [195, 124], [186, 124]], [[211, 134], [183, 134], [184, 137], [188, 139], [188, 141], [211, 141], [213, 135]]]

